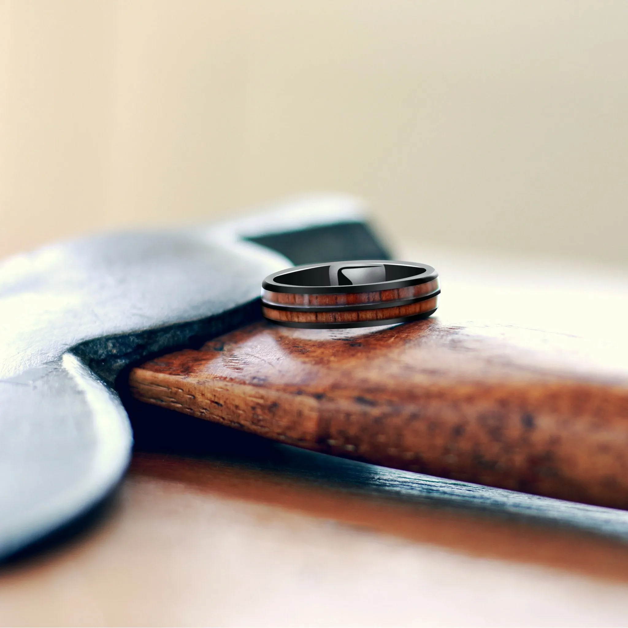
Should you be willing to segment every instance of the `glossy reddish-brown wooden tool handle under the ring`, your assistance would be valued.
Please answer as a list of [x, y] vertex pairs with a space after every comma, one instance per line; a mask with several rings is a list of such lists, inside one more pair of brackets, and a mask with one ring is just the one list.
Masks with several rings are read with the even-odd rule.
[[628, 507], [627, 380], [593, 369], [585, 341], [565, 342], [435, 318], [371, 330], [255, 323], [146, 362], [130, 386], [141, 401], [298, 447]]

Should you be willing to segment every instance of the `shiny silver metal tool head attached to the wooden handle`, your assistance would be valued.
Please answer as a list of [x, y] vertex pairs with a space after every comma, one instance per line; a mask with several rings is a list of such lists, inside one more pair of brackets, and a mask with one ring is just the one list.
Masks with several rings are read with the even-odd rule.
[[133, 436], [114, 382], [127, 365], [259, 318], [262, 279], [291, 262], [384, 257], [360, 202], [313, 197], [0, 264], [0, 558], [89, 511], [121, 479]]

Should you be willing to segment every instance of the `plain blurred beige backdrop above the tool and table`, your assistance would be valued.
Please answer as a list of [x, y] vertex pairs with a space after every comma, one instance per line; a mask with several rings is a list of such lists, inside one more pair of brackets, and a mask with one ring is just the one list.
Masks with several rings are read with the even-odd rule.
[[628, 3], [0, 0], [0, 254], [311, 191], [628, 265]]

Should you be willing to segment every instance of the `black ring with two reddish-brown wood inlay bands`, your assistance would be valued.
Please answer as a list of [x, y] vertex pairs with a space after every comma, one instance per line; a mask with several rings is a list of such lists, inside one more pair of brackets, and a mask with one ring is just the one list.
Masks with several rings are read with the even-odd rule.
[[428, 264], [361, 260], [306, 264], [262, 282], [264, 318], [310, 329], [372, 327], [431, 316], [438, 273]]

